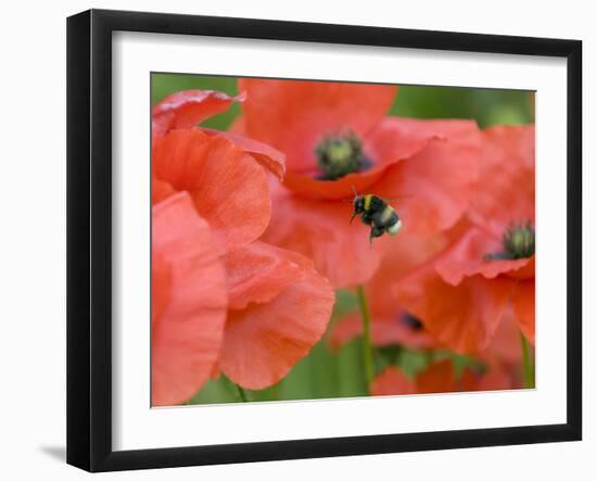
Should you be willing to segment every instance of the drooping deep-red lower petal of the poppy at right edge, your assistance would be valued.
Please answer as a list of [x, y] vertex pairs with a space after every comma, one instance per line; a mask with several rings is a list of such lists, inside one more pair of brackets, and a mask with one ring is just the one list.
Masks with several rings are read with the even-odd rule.
[[459, 353], [477, 354], [490, 344], [510, 301], [515, 280], [472, 276], [458, 287], [428, 263], [395, 284], [401, 305], [439, 341]]

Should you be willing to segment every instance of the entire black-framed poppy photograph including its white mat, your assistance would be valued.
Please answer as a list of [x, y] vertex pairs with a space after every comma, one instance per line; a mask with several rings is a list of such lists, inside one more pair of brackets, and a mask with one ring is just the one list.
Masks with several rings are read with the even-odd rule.
[[576, 40], [67, 22], [67, 463], [582, 436]]

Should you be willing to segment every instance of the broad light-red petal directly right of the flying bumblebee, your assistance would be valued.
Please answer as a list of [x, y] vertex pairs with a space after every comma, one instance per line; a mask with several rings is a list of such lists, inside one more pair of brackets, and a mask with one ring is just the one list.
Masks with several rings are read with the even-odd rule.
[[[418, 122], [424, 126], [424, 121]], [[444, 124], [432, 125], [437, 135], [443, 127], [452, 137], [432, 139], [420, 153], [391, 166], [374, 186], [376, 194], [391, 200], [405, 231], [433, 233], [448, 229], [469, 205], [477, 182], [479, 130], [468, 121]]]

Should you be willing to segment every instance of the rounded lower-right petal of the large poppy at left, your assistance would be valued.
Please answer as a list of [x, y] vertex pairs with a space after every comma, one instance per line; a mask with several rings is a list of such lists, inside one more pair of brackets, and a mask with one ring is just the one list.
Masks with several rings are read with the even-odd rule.
[[[264, 389], [282, 379], [319, 341], [330, 319], [334, 293], [312, 263], [304, 258], [297, 261], [294, 253], [270, 248], [269, 256], [279, 260], [264, 262], [266, 245], [251, 244], [242, 249], [247, 263], [253, 263], [254, 255], [258, 257], [255, 265], [271, 263], [280, 269], [288, 268], [287, 263], [295, 264], [288, 276], [267, 268], [257, 279], [246, 279], [246, 289], [242, 288], [244, 282], [240, 282], [241, 287], [234, 289], [234, 302], [245, 307], [228, 313], [220, 369], [243, 388]], [[254, 275], [256, 270], [240, 277], [245, 278], [246, 274]], [[272, 296], [277, 287], [281, 290]], [[247, 303], [251, 298], [254, 302]]]

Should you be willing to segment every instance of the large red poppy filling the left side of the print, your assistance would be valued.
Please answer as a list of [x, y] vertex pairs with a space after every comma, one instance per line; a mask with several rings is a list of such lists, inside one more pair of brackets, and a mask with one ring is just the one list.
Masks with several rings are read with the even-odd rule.
[[[188, 207], [192, 205], [195, 224], [200, 221], [206, 231], [195, 249], [211, 252], [221, 273], [219, 286], [225, 294], [221, 316], [226, 322], [221, 320], [217, 329], [215, 321], [198, 324], [200, 316], [193, 324], [187, 322], [186, 308], [190, 307], [185, 305], [173, 312], [170, 322], [158, 322], [164, 326], [162, 338], [176, 342], [168, 342], [153, 354], [154, 372], [161, 372], [155, 370], [161, 363], [168, 366], [165, 371], [168, 376], [154, 378], [154, 383], [161, 383], [158, 392], [164, 393], [154, 396], [155, 405], [186, 401], [218, 368], [243, 388], [262, 389], [279, 381], [322, 336], [334, 302], [329, 282], [315, 271], [310, 261], [256, 241], [269, 221], [267, 174], [283, 172], [281, 154], [239, 136], [193, 127], [195, 119], [205, 115], [196, 99], [213, 101], [213, 96], [195, 92], [192, 98], [191, 113], [179, 115], [177, 109], [190, 107], [185, 102], [170, 102], [168, 105], [175, 105], [175, 112], [166, 116], [169, 121], [161, 118], [158, 128], [154, 126], [157, 135], [153, 143], [152, 201], [155, 211], [182, 197], [189, 217], [192, 216]], [[221, 98], [217, 100], [215, 105], [219, 109]], [[165, 115], [164, 110], [158, 113]], [[172, 129], [173, 126], [182, 128]], [[192, 229], [193, 221], [188, 220], [188, 226]], [[182, 236], [185, 223], [179, 227]], [[168, 228], [164, 224], [160, 231], [155, 230], [154, 220], [153, 242], [156, 236], [169, 236]], [[194, 241], [189, 238], [188, 242]], [[212, 273], [211, 264], [188, 257], [187, 248], [191, 245], [181, 240], [173, 248], [173, 255], [188, 262], [186, 269], [191, 279], [202, 279], [204, 269]], [[161, 306], [178, 296], [194, 300], [193, 312], [209, 311], [211, 291], [195, 291], [201, 283], [174, 283], [168, 277], [172, 269], [162, 268], [158, 257], [154, 263], [155, 313], [162, 313]], [[193, 340], [193, 333], [201, 339]], [[190, 365], [183, 364], [186, 352], [177, 351], [185, 340], [187, 352], [193, 351]], [[175, 376], [175, 365], [169, 359], [180, 359], [185, 372]], [[183, 383], [185, 389], [177, 390], [177, 383]]]

